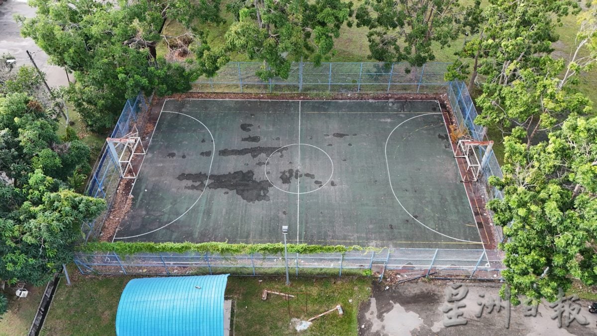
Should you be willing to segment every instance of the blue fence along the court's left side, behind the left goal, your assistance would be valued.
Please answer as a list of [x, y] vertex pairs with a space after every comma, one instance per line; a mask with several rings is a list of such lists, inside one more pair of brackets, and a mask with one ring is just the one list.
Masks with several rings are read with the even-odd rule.
[[[135, 100], [127, 99], [110, 138], [122, 138], [127, 135], [131, 131], [133, 124], [137, 122], [139, 114], [147, 111], [147, 108], [147, 102], [141, 93]], [[118, 188], [121, 180], [118, 158], [112, 157], [105, 144], [101, 149], [100, 158], [97, 160], [92, 172], [85, 188], [85, 194], [92, 197], [104, 198], [107, 203], [107, 209], [95, 221], [85, 222], [81, 226], [81, 231], [85, 235], [85, 241], [90, 237], [99, 236], [103, 222], [112, 207], [116, 188]]]

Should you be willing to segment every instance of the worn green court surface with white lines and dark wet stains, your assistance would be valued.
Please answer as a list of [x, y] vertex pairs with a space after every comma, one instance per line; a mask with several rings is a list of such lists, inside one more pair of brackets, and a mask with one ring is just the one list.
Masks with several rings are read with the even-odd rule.
[[436, 101], [168, 99], [115, 241], [482, 249]]

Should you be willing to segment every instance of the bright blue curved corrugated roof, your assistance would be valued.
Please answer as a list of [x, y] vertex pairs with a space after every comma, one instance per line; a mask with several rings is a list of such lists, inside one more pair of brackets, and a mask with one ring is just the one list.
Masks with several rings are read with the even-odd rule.
[[229, 274], [133, 279], [120, 297], [116, 335], [224, 335]]

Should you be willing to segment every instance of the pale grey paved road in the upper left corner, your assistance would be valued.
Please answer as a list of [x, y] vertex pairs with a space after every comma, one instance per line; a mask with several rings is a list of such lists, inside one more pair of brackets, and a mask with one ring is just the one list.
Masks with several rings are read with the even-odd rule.
[[[35, 15], [35, 8], [29, 7], [26, 0], [7, 0], [0, 5], [0, 55], [11, 54], [17, 58], [17, 65], [31, 65], [25, 50], [33, 54], [39, 68], [45, 72], [48, 85], [67, 85], [66, 73], [58, 66], [48, 65], [48, 56], [30, 38], [20, 35], [20, 27], [14, 20], [15, 14], [26, 17]], [[71, 78], [72, 79], [72, 78]]]

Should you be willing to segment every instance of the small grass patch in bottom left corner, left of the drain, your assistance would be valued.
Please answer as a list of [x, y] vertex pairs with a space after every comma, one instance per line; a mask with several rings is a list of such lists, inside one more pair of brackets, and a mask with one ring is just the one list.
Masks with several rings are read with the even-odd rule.
[[8, 311], [0, 319], [0, 336], [20, 336], [29, 332], [45, 286], [26, 288], [29, 291], [26, 298], [17, 298], [15, 290], [8, 287], [4, 292], [8, 298]]

